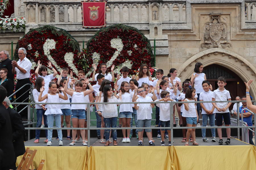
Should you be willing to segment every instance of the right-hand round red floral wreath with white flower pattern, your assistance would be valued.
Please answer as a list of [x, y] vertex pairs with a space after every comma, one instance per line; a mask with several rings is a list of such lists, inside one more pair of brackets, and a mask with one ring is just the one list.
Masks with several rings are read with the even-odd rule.
[[154, 64], [151, 63], [153, 54], [149, 40], [138, 29], [123, 24], [97, 31], [88, 41], [86, 50], [87, 62], [83, 65], [83, 70], [87, 77], [92, 77], [92, 64], [99, 67], [101, 63], [106, 63], [108, 70], [114, 64], [115, 73], [126, 66], [130, 69], [129, 74], [136, 74], [142, 63], [149, 66]]

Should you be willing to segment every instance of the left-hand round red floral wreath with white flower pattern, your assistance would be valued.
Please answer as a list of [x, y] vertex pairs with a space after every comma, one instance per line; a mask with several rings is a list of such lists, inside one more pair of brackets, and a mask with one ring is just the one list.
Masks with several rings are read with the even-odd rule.
[[[78, 57], [80, 52], [78, 42], [65, 30], [54, 26], [45, 25], [40, 28], [31, 29], [22, 39], [17, 42], [15, 58], [18, 58], [18, 49], [23, 47], [27, 50], [26, 57], [32, 62], [30, 72], [34, 74], [38, 60], [42, 65], [50, 61], [52, 66], [60, 73], [61, 68], [68, 67], [73, 75], [78, 75], [82, 69], [77, 63], [81, 61]], [[51, 74], [51, 70], [48, 69]]]

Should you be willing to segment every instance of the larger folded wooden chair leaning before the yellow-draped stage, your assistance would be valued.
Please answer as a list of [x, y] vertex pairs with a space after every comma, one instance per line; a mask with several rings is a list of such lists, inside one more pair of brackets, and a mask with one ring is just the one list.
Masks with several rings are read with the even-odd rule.
[[36, 149], [30, 150], [29, 148], [27, 148], [17, 169], [30, 170], [30, 167], [31, 167], [31, 169], [34, 170], [33, 159], [36, 155], [36, 151], [37, 151]]

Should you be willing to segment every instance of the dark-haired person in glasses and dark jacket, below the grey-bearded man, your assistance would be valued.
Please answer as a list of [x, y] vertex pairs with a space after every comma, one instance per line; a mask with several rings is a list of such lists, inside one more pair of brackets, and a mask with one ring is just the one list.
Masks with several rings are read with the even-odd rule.
[[[14, 89], [14, 83], [11, 78], [7, 77], [8, 75], [8, 70], [3, 68], [0, 69], [0, 85], [4, 86], [4, 88], [7, 90], [7, 97], [13, 94], [13, 89]], [[9, 98], [11, 100], [12, 97]]]

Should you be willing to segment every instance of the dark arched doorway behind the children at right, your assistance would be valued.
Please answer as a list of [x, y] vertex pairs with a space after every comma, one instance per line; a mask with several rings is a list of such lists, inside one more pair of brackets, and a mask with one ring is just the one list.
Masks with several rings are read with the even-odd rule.
[[[206, 74], [207, 80], [212, 84], [213, 90], [218, 88], [218, 77], [225, 77], [227, 82], [225, 88], [230, 92], [231, 100], [235, 100], [236, 96], [242, 97], [245, 95], [245, 85], [243, 80], [230, 69], [221, 65], [212, 64], [204, 67], [203, 72]], [[233, 104], [231, 106], [233, 106]]]

